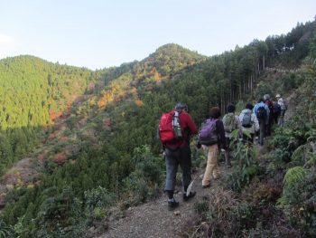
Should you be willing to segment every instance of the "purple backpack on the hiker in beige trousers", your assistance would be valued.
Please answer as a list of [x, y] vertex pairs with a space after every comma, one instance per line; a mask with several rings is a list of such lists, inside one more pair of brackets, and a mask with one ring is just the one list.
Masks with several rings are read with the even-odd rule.
[[207, 119], [200, 129], [199, 142], [201, 145], [214, 145], [218, 143], [218, 133], [216, 131], [216, 121], [218, 119]]

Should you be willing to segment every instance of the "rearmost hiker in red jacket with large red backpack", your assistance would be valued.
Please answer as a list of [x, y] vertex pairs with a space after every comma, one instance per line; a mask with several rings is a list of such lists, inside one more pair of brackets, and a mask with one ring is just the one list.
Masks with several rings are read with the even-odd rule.
[[188, 201], [196, 192], [187, 194], [191, 183], [191, 135], [198, 134], [198, 127], [188, 113], [188, 106], [178, 102], [175, 109], [163, 113], [159, 124], [159, 137], [163, 144], [166, 181], [164, 191], [168, 194], [168, 208], [173, 210], [179, 205], [174, 199], [174, 188], [178, 166], [182, 170], [182, 185], [184, 187], [183, 201]]

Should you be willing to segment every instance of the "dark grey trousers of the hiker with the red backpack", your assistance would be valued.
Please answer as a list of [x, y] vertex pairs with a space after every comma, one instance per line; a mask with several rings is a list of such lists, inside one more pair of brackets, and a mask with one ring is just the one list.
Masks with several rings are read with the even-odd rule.
[[166, 164], [166, 183], [165, 191], [173, 191], [175, 181], [180, 165], [182, 170], [182, 184], [187, 187], [191, 183], [191, 149], [190, 147], [182, 147], [177, 149], [165, 149], [165, 164]]

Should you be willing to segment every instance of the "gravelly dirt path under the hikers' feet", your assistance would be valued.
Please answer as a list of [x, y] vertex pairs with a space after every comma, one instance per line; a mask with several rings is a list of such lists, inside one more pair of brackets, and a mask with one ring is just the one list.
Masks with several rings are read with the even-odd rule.
[[[224, 165], [220, 166], [222, 173], [225, 173]], [[180, 205], [174, 211], [168, 211], [166, 195], [148, 204], [129, 208], [124, 218], [110, 222], [108, 231], [98, 238], [183, 237], [185, 224], [194, 221], [196, 217], [194, 205], [202, 201], [203, 196], [208, 196], [212, 187], [218, 186], [222, 180], [213, 180], [209, 188], [202, 188], [203, 172], [204, 170], [200, 170], [192, 175], [195, 180], [191, 191], [196, 191], [197, 195], [190, 201], [183, 202], [182, 193], [178, 193], [175, 198]]]

